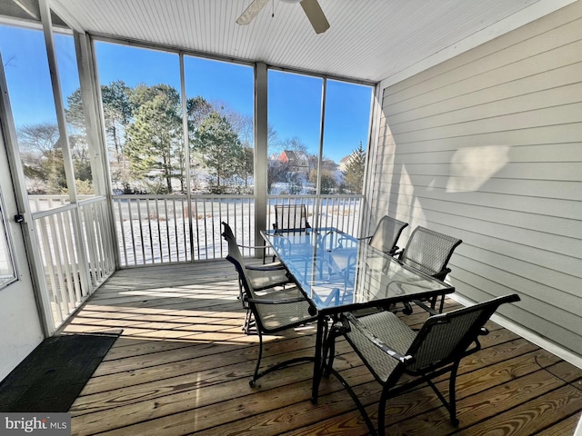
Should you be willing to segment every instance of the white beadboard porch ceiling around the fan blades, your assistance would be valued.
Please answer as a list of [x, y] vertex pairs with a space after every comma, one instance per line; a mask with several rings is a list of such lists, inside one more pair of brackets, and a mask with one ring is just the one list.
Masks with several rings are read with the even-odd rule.
[[[319, 0], [316, 35], [300, 5], [271, 0], [49, 0], [77, 31], [362, 82], [396, 82], [573, 0]], [[274, 12], [274, 16], [273, 16]]]

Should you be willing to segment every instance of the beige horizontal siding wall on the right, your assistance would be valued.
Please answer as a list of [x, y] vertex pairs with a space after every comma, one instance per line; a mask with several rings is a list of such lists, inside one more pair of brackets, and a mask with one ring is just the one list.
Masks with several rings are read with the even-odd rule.
[[384, 90], [373, 221], [463, 239], [457, 293], [582, 356], [582, 2]]

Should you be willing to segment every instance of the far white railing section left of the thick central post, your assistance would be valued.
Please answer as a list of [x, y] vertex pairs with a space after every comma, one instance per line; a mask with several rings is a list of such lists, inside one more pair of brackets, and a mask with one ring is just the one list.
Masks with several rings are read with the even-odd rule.
[[116, 195], [115, 228], [122, 267], [226, 256], [220, 223], [235, 223], [239, 242], [254, 233], [255, 203], [246, 195]]

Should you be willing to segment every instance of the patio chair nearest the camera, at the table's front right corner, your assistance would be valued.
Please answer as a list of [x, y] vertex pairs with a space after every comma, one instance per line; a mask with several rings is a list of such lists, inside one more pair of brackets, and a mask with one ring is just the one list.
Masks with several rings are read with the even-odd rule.
[[[329, 333], [326, 346], [333, 373], [349, 392], [372, 434], [376, 430], [362, 403], [346, 380], [333, 368], [334, 343], [344, 335], [362, 362], [382, 385], [378, 404], [378, 429], [385, 433], [386, 401], [426, 382], [443, 402], [453, 425], [458, 425], [456, 404], [457, 370], [461, 360], [481, 349], [478, 337], [486, 335], [485, 323], [506, 302], [518, 302], [517, 294], [506, 295], [457, 311], [429, 317], [415, 332], [393, 312], [376, 312], [356, 318], [346, 313]], [[433, 380], [449, 373], [448, 401]]]

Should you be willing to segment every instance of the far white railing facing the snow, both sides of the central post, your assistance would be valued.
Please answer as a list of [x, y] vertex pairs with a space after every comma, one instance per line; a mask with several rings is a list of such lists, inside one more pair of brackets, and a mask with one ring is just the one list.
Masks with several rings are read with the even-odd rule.
[[[321, 197], [319, 225], [357, 235], [361, 201], [361, 195]], [[309, 216], [316, 216], [316, 196], [277, 195], [268, 202], [268, 228], [276, 203], [305, 203]], [[196, 195], [190, 207], [186, 195], [116, 195], [113, 209], [122, 268], [224, 258], [222, 221], [233, 227], [238, 243], [249, 246], [255, 241], [252, 195]], [[255, 253], [246, 249], [243, 254]]]

